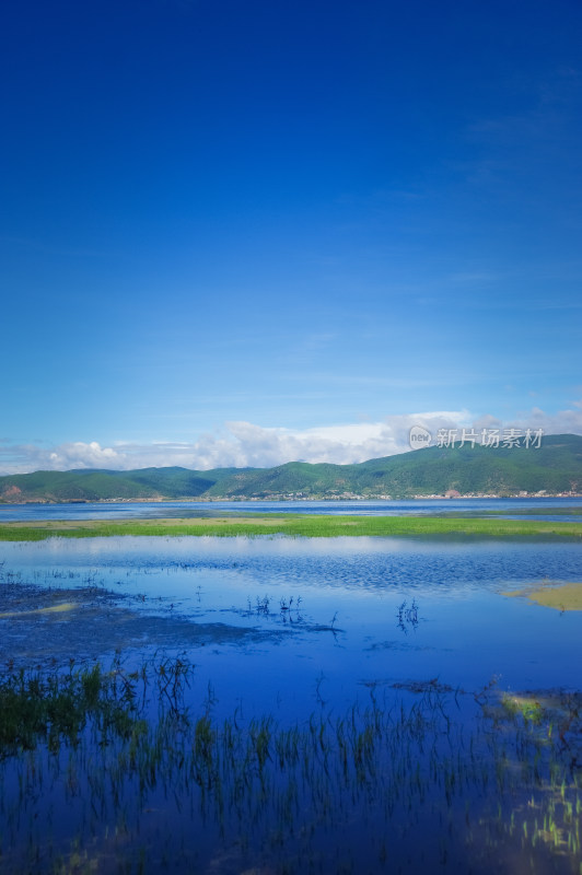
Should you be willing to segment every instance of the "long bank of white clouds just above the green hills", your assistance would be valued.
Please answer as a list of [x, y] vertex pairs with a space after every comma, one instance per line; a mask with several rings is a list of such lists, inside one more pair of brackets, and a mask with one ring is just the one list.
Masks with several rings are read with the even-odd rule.
[[0, 474], [72, 468], [166, 467], [207, 470], [225, 467], [271, 467], [286, 462], [327, 462], [338, 465], [364, 462], [409, 451], [412, 425], [422, 425], [432, 435], [439, 429], [517, 428], [542, 429], [545, 434], [582, 434], [582, 401], [555, 415], [534, 407], [519, 419], [502, 421], [485, 413], [474, 417], [467, 410], [440, 410], [407, 416], [388, 416], [382, 422], [358, 422], [292, 430], [264, 428], [252, 422], [226, 422], [220, 432], [200, 435], [196, 443], [156, 441], [151, 444], [115, 442], [101, 446], [95, 441], [63, 443], [43, 447], [37, 444], [11, 445], [0, 442]]

